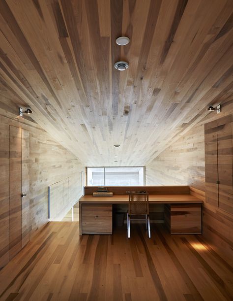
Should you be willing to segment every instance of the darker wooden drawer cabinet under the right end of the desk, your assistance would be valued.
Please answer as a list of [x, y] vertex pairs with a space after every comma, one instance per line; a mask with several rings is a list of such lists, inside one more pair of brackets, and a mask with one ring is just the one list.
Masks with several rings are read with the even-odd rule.
[[171, 234], [202, 234], [201, 204], [166, 205], [165, 224]]

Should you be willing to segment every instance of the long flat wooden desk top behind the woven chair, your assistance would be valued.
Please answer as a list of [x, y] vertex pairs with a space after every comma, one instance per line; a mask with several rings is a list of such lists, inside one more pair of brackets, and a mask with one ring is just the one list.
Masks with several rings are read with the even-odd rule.
[[[90, 195], [83, 196], [79, 202], [81, 204], [122, 204], [128, 203], [128, 195], [113, 195], [113, 197], [92, 197]], [[199, 203], [202, 204], [203, 201], [192, 196], [192, 195], [149, 195], [149, 203], [158, 203], [158, 204], [172, 204], [172, 203]]]

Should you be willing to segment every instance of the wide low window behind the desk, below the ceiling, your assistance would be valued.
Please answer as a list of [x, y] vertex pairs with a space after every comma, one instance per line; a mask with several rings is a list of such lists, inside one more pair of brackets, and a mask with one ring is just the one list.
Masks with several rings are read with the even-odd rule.
[[145, 167], [87, 167], [88, 186], [143, 186]]

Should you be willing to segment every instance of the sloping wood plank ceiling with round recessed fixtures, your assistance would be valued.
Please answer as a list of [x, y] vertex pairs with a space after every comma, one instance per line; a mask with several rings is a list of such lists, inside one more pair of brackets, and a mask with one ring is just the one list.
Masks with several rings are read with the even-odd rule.
[[232, 0], [0, 0], [0, 29], [1, 107], [86, 166], [143, 166], [233, 96]]

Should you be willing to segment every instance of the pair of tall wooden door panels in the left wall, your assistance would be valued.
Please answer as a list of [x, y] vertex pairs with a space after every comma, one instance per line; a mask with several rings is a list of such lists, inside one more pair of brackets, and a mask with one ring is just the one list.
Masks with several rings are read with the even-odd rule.
[[[29, 132], [10, 126], [10, 259], [29, 241]], [[25, 195], [24, 197], [22, 197]]]

